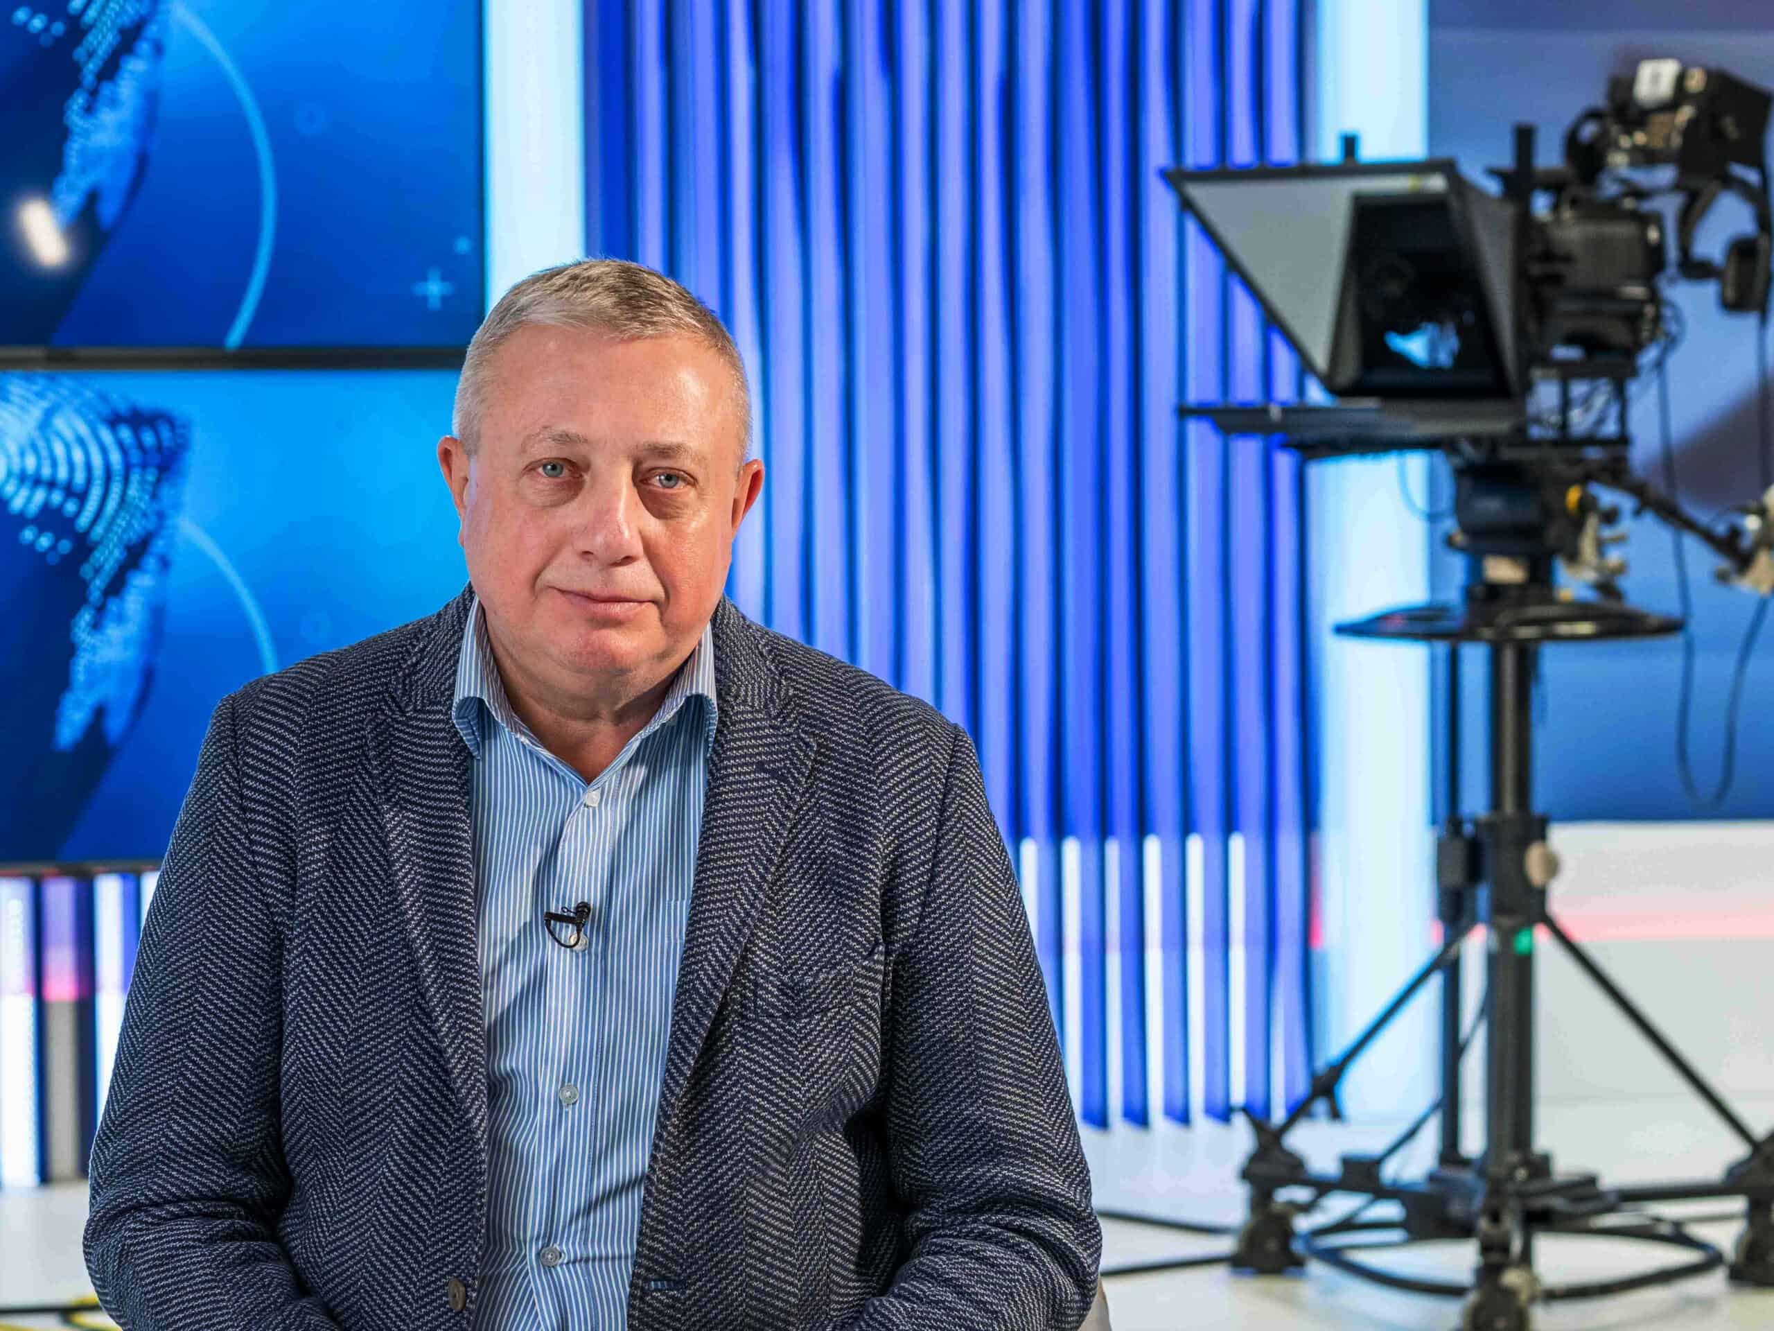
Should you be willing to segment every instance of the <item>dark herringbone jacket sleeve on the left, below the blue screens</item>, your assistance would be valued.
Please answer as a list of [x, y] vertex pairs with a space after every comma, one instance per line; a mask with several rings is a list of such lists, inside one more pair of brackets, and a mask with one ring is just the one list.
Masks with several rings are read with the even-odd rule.
[[282, 925], [234, 710], [209, 721], [137, 951], [89, 1168], [87, 1274], [131, 1331], [337, 1331], [277, 1239]]

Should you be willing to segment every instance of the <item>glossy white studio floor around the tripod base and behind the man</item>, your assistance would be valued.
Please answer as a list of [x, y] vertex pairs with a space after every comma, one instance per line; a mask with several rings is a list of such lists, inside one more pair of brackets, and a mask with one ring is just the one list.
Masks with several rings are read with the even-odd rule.
[[[1774, 1123], [1774, 1100], [1742, 1102], [1751, 1123]], [[1290, 1138], [1315, 1166], [1330, 1168], [1345, 1150], [1375, 1150], [1394, 1123], [1361, 1127], [1307, 1123]], [[1609, 1182], [1715, 1177], [1740, 1155], [1705, 1111], [1685, 1099], [1559, 1104], [1542, 1111], [1542, 1141], [1568, 1170], [1597, 1170]], [[1087, 1134], [1086, 1148], [1105, 1210], [1167, 1214], [1233, 1223], [1240, 1210], [1236, 1177], [1247, 1132], [1242, 1127], [1164, 1127], [1151, 1132]], [[1419, 1155], [1421, 1159], [1421, 1155]], [[1717, 1203], [1699, 1205], [1719, 1214]], [[1341, 1203], [1327, 1203], [1341, 1212]], [[1689, 1209], [1696, 1210], [1694, 1207]], [[85, 1223], [83, 1185], [0, 1191], [0, 1306], [50, 1304], [90, 1296], [80, 1258]], [[1696, 1233], [1728, 1248], [1735, 1223], [1699, 1225]], [[1222, 1239], [1180, 1235], [1121, 1221], [1103, 1223], [1103, 1269], [1213, 1253]], [[1671, 1249], [1673, 1253], [1673, 1249]], [[1389, 1255], [1391, 1269], [1462, 1278], [1471, 1249], [1448, 1244]], [[1543, 1240], [1542, 1274], [1549, 1280], [1598, 1280], [1627, 1274], [1646, 1262], [1671, 1260], [1662, 1249], [1618, 1240]], [[1673, 1260], [1680, 1260], [1676, 1253]], [[1458, 1304], [1393, 1294], [1323, 1267], [1284, 1280], [1245, 1280], [1221, 1267], [1142, 1276], [1109, 1276], [1116, 1331], [1451, 1331]], [[50, 1317], [14, 1317], [12, 1326], [57, 1326]], [[1646, 1290], [1586, 1304], [1547, 1304], [1540, 1331], [1724, 1331], [1774, 1326], [1774, 1292], [1730, 1288], [1723, 1274], [1680, 1287]]]

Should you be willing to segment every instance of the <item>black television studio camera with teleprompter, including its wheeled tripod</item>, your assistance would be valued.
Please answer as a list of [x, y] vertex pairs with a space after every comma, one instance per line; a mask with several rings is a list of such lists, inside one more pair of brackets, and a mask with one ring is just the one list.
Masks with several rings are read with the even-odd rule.
[[[1339, 165], [1164, 172], [1334, 398], [1185, 406], [1183, 415], [1206, 417], [1226, 437], [1281, 437], [1307, 458], [1446, 454], [1455, 479], [1449, 545], [1467, 561], [1464, 598], [1385, 610], [1338, 632], [1478, 642], [1490, 674], [1490, 807], [1471, 818], [1455, 809], [1439, 839], [1442, 946], [1283, 1122], [1252, 1116], [1256, 1148], [1242, 1173], [1249, 1212], [1235, 1269], [1279, 1274], [1309, 1256], [1396, 1288], [1464, 1297], [1469, 1331], [1522, 1331], [1538, 1301], [1621, 1294], [1719, 1267], [1733, 1281], [1774, 1287], [1774, 1134], [1753, 1132], [1547, 909], [1558, 859], [1547, 818], [1533, 811], [1529, 706], [1542, 646], [1652, 639], [1684, 626], [1625, 602], [1625, 563], [1609, 554], [1623, 539], [1611, 531], [1621, 520], [1611, 497], [1708, 547], [1721, 580], [1774, 595], [1774, 477], [1763, 476], [1767, 493], [1731, 516], [1701, 520], [1627, 458], [1629, 385], [1664, 371], [1678, 318], [1668, 284], [1717, 284], [1723, 307], [1758, 316], [1765, 332], [1769, 106], [1767, 91], [1723, 69], [1644, 60], [1611, 82], [1604, 106], [1570, 126], [1561, 165], [1536, 167], [1535, 130], [1517, 126], [1513, 163], [1492, 170], [1495, 193], [1464, 179], [1451, 160], [1357, 161], [1352, 138]], [[1726, 193], [1749, 204], [1754, 229], [1710, 261], [1696, 254], [1696, 232]], [[1774, 442], [1765, 410], [1762, 419], [1767, 456]], [[1586, 595], [1561, 586], [1561, 575]], [[1458, 657], [1448, 653], [1451, 696]], [[1462, 1036], [1460, 949], [1478, 926], [1488, 939], [1487, 990]], [[1554, 1170], [1536, 1150], [1536, 928], [1742, 1139], [1746, 1155], [1723, 1178], [1609, 1187], [1597, 1175]], [[1336, 1111], [1345, 1074], [1437, 976], [1439, 1166], [1425, 1178], [1387, 1177], [1400, 1141], [1378, 1157], [1343, 1157], [1334, 1175], [1315, 1173], [1288, 1150], [1286, 1134], [1316, 1104]], [[1485, 1148], [1472, 1159], [1462, 1150], [1460, 1061], [1480, 1024]], [[1297, 1230], [1295, 1217], [1334, 1193], [1398, 1203], [1401, 1219]], [[1676, 1221], [1643, 1214], [1648, 1203], [1694, 1198], [1744, 1200], [1746, 1225], [1730, 1256]], [[1366, 1249], [1378, 1232], [1398, 1242], [1476, 1240], [1472, 1283], [1373, 1265]], [[1339, 1242], [1346, 1233], [1359, 1242]], [[1671, 1244], [1682, 1258], [1618, 1280], [1549, 1283], [1535, 1269], [1535, 1239], [1549, 1233]]]

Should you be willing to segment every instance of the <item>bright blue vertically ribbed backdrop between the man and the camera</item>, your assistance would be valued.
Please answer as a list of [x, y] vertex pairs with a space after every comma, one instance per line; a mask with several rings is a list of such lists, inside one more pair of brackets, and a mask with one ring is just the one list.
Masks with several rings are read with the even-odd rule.
[[1086, 1122], [1307, 1081], [1299, 367], [1164, 165], [1293, 161], [1306, 0], [589, 0], [587, 252], [745, 355], [729, 591], [974, 736]]

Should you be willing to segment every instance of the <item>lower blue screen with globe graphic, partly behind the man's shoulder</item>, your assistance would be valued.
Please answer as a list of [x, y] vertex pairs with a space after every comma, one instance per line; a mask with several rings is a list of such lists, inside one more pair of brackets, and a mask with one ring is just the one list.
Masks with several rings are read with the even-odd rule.
[[216, 701], [463, 587], [454, 385], [0, 374], [0, 862], [161, 855]]

